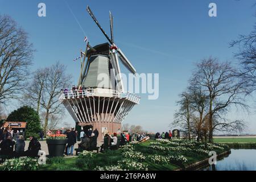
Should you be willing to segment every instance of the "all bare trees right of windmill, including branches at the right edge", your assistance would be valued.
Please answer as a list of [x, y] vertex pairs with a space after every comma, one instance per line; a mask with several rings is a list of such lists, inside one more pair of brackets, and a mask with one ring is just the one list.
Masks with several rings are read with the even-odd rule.
[[245, 97], [256, 90], [256, 28], [230, 43], [234, 46], [239, 47], [237, 68], [213, 57], [203, 59], [196, 64], [187, 90], [179, 96], [172, 126], [181, 125], [189, 139], [195, 134], [197, 140], [208, 137], [208, 142], [213, 142], [215, 130], [245, 129], [244, 121], [230, 121], [225, 115], [233, 106], [247, 110]]

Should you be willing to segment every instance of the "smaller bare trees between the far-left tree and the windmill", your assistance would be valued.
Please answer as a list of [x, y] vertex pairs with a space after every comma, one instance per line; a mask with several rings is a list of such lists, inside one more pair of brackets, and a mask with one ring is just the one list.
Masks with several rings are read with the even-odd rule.
[[71, 85], [71, 78], [72, 76], [66, 73], [66, 67], [59, 62], [35, 72], [32, 82], [27, 88], [25, 98], [43, 113], [44, 131], [48, 129], [50, 117], [55, 117], [52, 119], [56, 121], [56, 114], [64, 113], [64, 108], [58, 98], [61, 90]]

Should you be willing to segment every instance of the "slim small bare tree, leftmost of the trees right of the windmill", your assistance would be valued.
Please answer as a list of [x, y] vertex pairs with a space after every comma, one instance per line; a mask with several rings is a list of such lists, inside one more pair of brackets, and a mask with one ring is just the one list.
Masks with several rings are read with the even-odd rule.
[[188, 133], [188, 139], [191, 140], [191, 114], [192, 114], [192, 102], [191, 94], [188, 92], [183, 92], [179, 95], [180, 100], [177, 101], [179, 105], [179, 110], [174, 114], [174, 122], [172, 126], [180, 125], [185, 128]]

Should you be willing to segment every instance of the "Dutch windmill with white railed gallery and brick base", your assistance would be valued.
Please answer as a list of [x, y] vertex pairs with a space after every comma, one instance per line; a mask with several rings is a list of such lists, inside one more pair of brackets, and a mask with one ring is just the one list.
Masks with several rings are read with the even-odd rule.
[[[77, 125], [84, 129], [97, 128], [102, 137], [103, 130], [113, 133], [121, 128], [121, 122], [140, 97], [126, 93], [119, 67], [119, 60], [133, 74], [135, 68], [114, 43], [113, 16], [109, 12], [111, 39], [100, 26], [90, 10], [86, 9], [109, 43], [90, 46], [87, 41], [85, 51], [80, 51], [81, 69], [78, 84], [82, 89], [64, 90], [60, 101], [71, 114]], [[104, 82], [99, 76], [103, 75]], [[102, 132], [101, 132], [102, 131]]]

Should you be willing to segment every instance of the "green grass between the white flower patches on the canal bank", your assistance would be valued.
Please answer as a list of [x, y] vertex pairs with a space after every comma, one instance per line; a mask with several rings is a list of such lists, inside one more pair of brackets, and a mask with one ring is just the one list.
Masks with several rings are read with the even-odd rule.
[[[138, 160], [137, 163], [141, 163], [145, 166], [147, 166], [148, 170], [175, 170], [178, 168], [183, 168], [187, 164], [191, 164], [194, 162], [198, 162], [200, 160], [208, 158], [208, 154], [203, 152], [199, 153], [195, 150], [204, 150], [205, 148], [202, 147], [199, 143], [183, 143], [180, 141], [166, 143], [166, 142], [156, 142], [154, 140], [148, 140], [147, 142], [143, 142], [140, 144], [134, 144], [134, 155], [136, 154], [142, 154], [146, 158], [143, 160]], [[152, 146], [160, 146], [162, 148], [152, 148]], [[169, 149], [169, 148], [170, 149]], [[177, 151], [175, 150], [175, 147], [180, 147], [181, 150]], [[165, 148], [165, 149], [163, 149]], [[166, 150], [168, 148], [168, 150]], [[186, 150], [186, 148], [188, 150]], [[193, 148], [191, 150], [191, 148]], [[128, 148], [129, 149], [129, 148]], [[210, 151], [211, 148], [205, 149], [207, 151]], [[224, 147], [222, 149], [215, 148], [217, 154], [220, 154], [221, 152], [229, 150], [228, 147]], [[106, 167], [106, 166], [117, 166], [118, 162], [125, 159], [123, 156], [123, 153], [126, 150], [119, 149], [119, 150], [109, 150], [105, 153], [99, 153], [95, 154], [94, 158], [80, 158], [80, 157], [74, 157], [74, 158], [51, 158], [47, 160], [47, 164], [40, 166], [39, 170], [50, 170], [50, 171], [77, 171], [77, 170], [93, 170], [96, 168], [96, 166], [100, 167]], [[152, 158], [155, 158], [155, 156], [184, 156], [187, 161], [186, 162], [161, 162], [161, 163], [154, 163], [152, 162]], [[148, 158], [148, 156], [152, 156], [152, 158]], [[130, 159], [132, 157], [126, 157], [127, 159]]]

